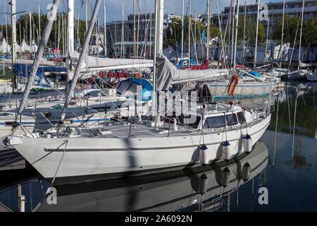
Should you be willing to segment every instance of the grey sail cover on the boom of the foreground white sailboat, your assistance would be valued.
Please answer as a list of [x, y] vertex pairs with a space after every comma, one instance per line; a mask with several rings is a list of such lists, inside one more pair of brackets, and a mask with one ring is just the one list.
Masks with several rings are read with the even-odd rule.
[[167, 91], [173, 84], [217, 78], [229, 73], [228, 69], [178, 70], [163, 54], [158, 54], [156, 59], [158, 91]]

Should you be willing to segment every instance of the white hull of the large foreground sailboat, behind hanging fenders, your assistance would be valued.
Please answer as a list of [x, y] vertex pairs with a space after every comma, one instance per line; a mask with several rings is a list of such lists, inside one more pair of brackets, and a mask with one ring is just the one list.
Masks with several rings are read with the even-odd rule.
[[[252, 142], [259, 141], [271, 115], [248, 127]], [[243, 153], [242, 137], [247, 130], [228, 131], [231, 155]], [[185, 167], [199, 163], [201, 135], [145, 136], [142, 138], [13, 138], [11, 143], [43, 177], [57, 179], [85, 176], [123, 177], [131, 173], [148, 174], [167, 167]], [[209, 161], [221, 158], [223, 131], [205, 134]], [[67, 145], [66, 145], [67, 144]], [[63, 151], [65, 155], [63, 155]], [[61, 161], [61, 158], [63, 159]], [[61, 165], [56, 173], [59, 162]], [[170, 170], [170, 169], [169, 169]], [[86, 180], [86, 179], [85, 179]]]

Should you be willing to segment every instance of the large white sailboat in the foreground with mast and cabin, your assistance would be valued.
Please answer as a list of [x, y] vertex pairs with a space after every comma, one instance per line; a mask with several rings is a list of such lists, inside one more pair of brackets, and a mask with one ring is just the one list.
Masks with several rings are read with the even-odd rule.
[[[73, 83], [63, 106], [61, 121], [66, 117], [70, 93], [75, 88], [100, 3], [101, 0], [96, 1]], [[163, 49], [160, 29], [163, 28], [162, 14], [163, 0], [157, 0], [156, 21], [159, 21], [159, 26], [156, 23], [154, 52], [159, 56]], [[157, 52], [157, 49], [161, 50]], [[156, 54], [154, 56], [156, 59]], [[166, 61], [162, 63], [161, 59], [159, 57], [157, 81], [154, 67], [156, 92], [168, 90], [174, 79], [193, 79], [187, 78], [189, 72], [170, 70], [168, 64], [164, 63]], [[197, 76], [196, 79], [203, 76]], [[271, 114], [266, 109], [244, 111], [241, 107], [232, 105], [203, 105], [185, 109], [189, 116], [196, 116], [194, 122], [188, 122], [181, 114], [178, 119], [173, 119], [172, 126], [171, 119], [169, 122], [161, 120], [165, 114], [156, 116], [158, 105], [155, 96], [151, 105], [154, 121], [149, 117], [143, 119], [137, 116], [132, 121], [113, 119], [99, 128], [77, 129], [75, 133], [70, 127], [64, 126], [58, 133], [44, 133], [32, 138], [13, 134], [8, 137], [7, 143], [18, 150], [44, 178], [56, 183], [72, 183], [100, 177], [105, 179], [151, 174], [207, 165], [215, 160], [230, 160], [235, 155], [251, 152], [252, 143], [259, 141], [271, 120]]]

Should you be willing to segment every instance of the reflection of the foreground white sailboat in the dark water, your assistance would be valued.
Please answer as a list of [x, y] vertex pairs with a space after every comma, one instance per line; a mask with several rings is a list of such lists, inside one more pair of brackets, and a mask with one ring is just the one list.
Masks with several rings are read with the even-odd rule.
[[172, 174], [56, 186], [57, 204], [44, 199], [38, 211], [213, 211], [230, 205], [230, 194], [264, 172], [268, 149]]

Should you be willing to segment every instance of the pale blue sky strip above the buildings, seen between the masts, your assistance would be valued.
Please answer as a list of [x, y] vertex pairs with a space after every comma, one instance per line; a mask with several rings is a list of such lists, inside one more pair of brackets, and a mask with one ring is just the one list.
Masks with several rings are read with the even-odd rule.
[[[11, 6], [8, 5], [8, 1], [10, 0], [0, 0], [0, 24], [5, 23], [5, 14], [4, 12], [11, 11]], [[51, 4], [53, 0], [16, 0], [17, 1], [17, 12], [19, 11], [32, 11], [37, 12], [38, 6], [40, 6], [42, 13], [46, 13], [48, 10], [46, 9], [48, 4]], [[81, 8], [81, 1], [82, 0], [75, 0], [75, 15], [77, 16], [80, 13], [81, 18], [85, 18], [85, 6]], [[85, 0], [84, 0], [85, 1]], [[94, 8], [95, 0], [89, 0], [89, 11], [92, 12]], [[122, 18], [122, 7], [121, 7], [121, 0], [105, 0], [106, 1], [106, 18], [107, 21], [113, 20], [121, 20]], [[131, 13], [133, 13], [133, 0], [123, 0], [124, 1], [124, 15], [125, 19]], [[187, 9], [187, 1], [185, 1], [185, 12]], [[219, 0], [219, 10], [222, 11], [224, 6], [230, 6], [231, 0]], [[240, 4], [244, 5], [245, 1], [247, 4], [255, 4], [256, 0], [240, 0]], [[261, 2], [277, 2], [282, 0], [261, 0]], [[137, 2], [137, 0], [136, 0]], [[144, 13], [154, 12], [154, 2], [155, 0], [139, 0], [140, 2], [140, 11]], [[213, 13], [216, 13], [216, 0], [211, 0]], [[198, 13], [205, 13], [207, 6], [207, 0], [192, 0], [192, 15]], [[59, 11], [66, 11], [67, 9], [67, 0], [61, 0], [61, 5], [59, 6]], [[81, 12], [80, 12], [81, 11]], [[137, 11], [137, 6], [136, 6]], [[99, 16], [100, 16], [100, 23], [103, 24], [103, 4], [101, 4], [101, 8], [99, 9]], [[182, 13], [182, 0], [165, 0], [164, 1], [164, 13], [173, 13], [181, 15]], [[91, 15], [90, 13], [89, 15]], [[10, 19], [10, 15], [8, 18]], [[101, 21], [102, 20], [102, 21]]]

